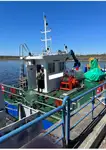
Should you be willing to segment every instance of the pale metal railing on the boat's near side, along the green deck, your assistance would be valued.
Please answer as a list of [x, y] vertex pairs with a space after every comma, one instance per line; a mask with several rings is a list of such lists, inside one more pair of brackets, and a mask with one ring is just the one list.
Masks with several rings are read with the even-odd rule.
[[[14, 86], [6, 85], [6, 84], [0, 84], [0, 85], [3, 87], [3, 89], [2, 88], [1, 89], [5, 96], [4, 97], [5, 100], [7, 98], [7, 101], [8, 99], [11, 99], [10, 100], [11, 103], [21, 102], [27, 106], [33, 107], [35, 109], [39, 109], [40, 112], [43, 114], [56, 108], [57, 107], [56, 104], [62, 105], [62, 99], [55, 97], [55, 93], [53, 94], [53, 96], [50, 96], [50, 95], [39, 93], [33, 90], [32, 92], [34, 95], [32, 97], [30, 96], [31, 94], [25, 97], [26, 92], [22, 88], [16, 88]], [[14, 89], [15, 92], [12, 91], [11, 89]], [[10, 95], [12, 97], [10, 97]], [[46, 108], [49, 108], [49, 109], [46, 109]], [[61, 117], [61, 111], [52, 117], [59, 120]]]

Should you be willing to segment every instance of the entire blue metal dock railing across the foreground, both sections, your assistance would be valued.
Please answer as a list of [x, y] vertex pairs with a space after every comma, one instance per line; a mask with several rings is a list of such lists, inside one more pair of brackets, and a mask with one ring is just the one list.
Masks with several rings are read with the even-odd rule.
[[[99, 87], [104, 87], [104, 90], [102, 92], [100, 92], [99, 94], [95, 94], [95, 90], [97, 90]], [[33, 121], [11, 131], [10, 133], [0, 137], [0, 143], [4, 142], [5, 140], [7, 140], [8, 138], [17, 135], [18, 133], [26, 130], [27, 128], [29, 128], [30, 126], [36, 124], [37, 122], [48, 118], [51, 115], [54, 115], [56, 112], [59, 112], [60, 110], [62, 110], [62, 118], [60, 120], [59, 123], [57, 123], [56, 125], [53, 125], [53, 128], [51, 128], [50, 130], [47, 130], [46, 133], [43, 134], [43, 136], [47, 136], [49, 135], [51, 132], [53, 132], [54, 130], [56, 130], [58, 127], [62, 126], [61, 130], [59, 132], [61, 132], [61, 136], [58, 138], [58, 140], [55, 141], [56, 143], [59, 143], [62, 140], [63, 143], [63, 147], [65, 147], [66, 145], [69, 144], [70, 141], [70, 132], [72, 131], [72, 129], [74, 129], [79, 123], [81, 123], [87, 116], [89, 116], [90, 114], [92, 114], [92, 119], [94, 119], [94, 111], [95, 109], [104, 101], [104, 103], [106, 104], [106, 82], [96, 86], [95, 88], [92, 88], [90, 90], [88, 90], [87, 92], [77, 96], [76, 98], [70, 99], [68, 96], [66, 96], [63, 99], [63, 103], [61, 106], [51, 110], [50, 112], [45, 113], [44, 115], [34, 119]], [[82, 105], [80, 108], [78, 108], [76, 111], [73, 111], [72, 105], [73, 103], [76, 103], [77, 101], [79, 101], [79, 99], [81, 99], [82, 97], [84, 97], [85, 95], [89, 94], [92, 92], [92, 97], [91, 99]], [[105, 93], [104, 95], [104, 99], [101, 99], [101, 101], [99, 101], [99, 103], [95, 106], [95, 100], [102, 95], [103, 93]], [[83, 108], [87, 107], [89, 104], [91, 104], [91, 110], [86, 113], [83, 117], [79, 118], [79, 120], [76, 120], [76, 122], [71, 126], [71, 119], [72, 117], [74, 117], [76, 114], [78, 114]]]

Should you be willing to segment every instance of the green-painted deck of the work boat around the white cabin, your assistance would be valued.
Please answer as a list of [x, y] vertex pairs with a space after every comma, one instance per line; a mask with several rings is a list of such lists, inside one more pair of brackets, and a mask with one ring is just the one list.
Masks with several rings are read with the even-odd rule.
[[[30, 106], [34, 109], [40, 110], [42, 113], [46, 113], [51, 111], [52, 109], [62, 105], [62, 100], [63, 98], [68, 95], [71, 99], [77, 97], [78, 95], [88, 91], [89, 89], [97, 86], [99, 83], [98, 82], [89, 82], [85, 81], [84, 83], [84, 88], [75, 88], [71, 91], [64, 91], [64, 90], [55, 90], [52, 91], [48, 94], [44, 93], [38, 93], [35, 90], [27, 90], [24, 91], [22, 95], [18, 94], [12, 95], [12, 98], [9, 96], [10, 92], [5, 92], [4, 93], [4, 98], [5, 101], [10, 102], [11, 104], [13, 103], [14, 105], [17, 106], [17, 102], [21, 102], [27, 106]], [[9, 89], [8, 89], [9, 90]], [[86, 101], [90, 99], [92, 96], [92, 92], [85, 95], [81, 99], [79, 99], [75, 104], [74, 104], [74, 109], [79, 108], [81, 105], [83, 105]], [[57, 122], [61, 118], [61, 111], [57, 112], [52, 119], [52, 122]], [[50, 119], [50, 118], [49, 118]]]

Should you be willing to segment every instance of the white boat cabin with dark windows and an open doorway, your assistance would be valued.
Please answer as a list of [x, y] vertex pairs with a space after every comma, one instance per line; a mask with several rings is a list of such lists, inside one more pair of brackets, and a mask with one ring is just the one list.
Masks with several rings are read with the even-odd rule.
[[60, 78], [63, 76], [64, 62], [68, 54], [27, 56], [28, 88], [37, 90], [37, 72], [44, 68], [44, 93], [56, 90], [60, 86]]

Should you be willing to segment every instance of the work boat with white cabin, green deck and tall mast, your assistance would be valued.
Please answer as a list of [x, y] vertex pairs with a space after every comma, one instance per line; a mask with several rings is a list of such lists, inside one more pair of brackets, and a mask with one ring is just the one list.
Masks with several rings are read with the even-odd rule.
[[[64, 50], [58, 50], [56, 53], [52, 53], [50, 46], [48, 46], [48, 42], [51, 41], [51, 38], [47, 38], [47, 33], [50, 31], [51, 30], [48, 30], [46, 16], [44, 16], [44, 31], [41, 31], [41, 33], [45, 35], [45, 38], [41, 40], [45, 43], [45, 49], [42, 54], [34, 55], [30, 52], [26, 44], [20, 45], [21, 69], [19, 84], [6, 85], [1, 83], [6, 113], [15, 119], [13, 124], [9, 126], [5, 124], [2, 126], [1, 132], [4, 136], [14, 130], [11, 136], [16, 133], [19, 134], [18, 136], [20, 137], [21, 133], [18, 132], [18, 128], [23, 126], [23, 124], [25, 125], [27, 122], [30, 123], [30, 121], [36, 123], [37, 118], [39, 120], [39, 117], [42, 118], [50, 112], [51, 115], [44, 117], [36, 126], [32, 126], [31, 130], [28, 130], [29, 138], [27, 140], [32, 140], [33, 137], [41, 134], [41, 131], [45, 132], [61, 120], [63, 112], [60, 108], [63, 105], [63, 100], [67, 96], [71, 101], [71, 99], [77, 96], [80, 97], [81, 94], [95, 88], [105, 81], [105, 73], [101, 73], [101, 69], [98, 67], [96, 67], [96, 71], [99, 69], [99, 73], [97, 74], [100, 74], [98, 79], [97, 75], [97, 80], [94, 79], [94, 74], [93, 77], [91, 76], [93, 73], [92, 70], [95, 69], [95, 67], [93, 68], [93, 66], [95, 66], [94, 64], [98, 63], [95, 58], [90, 59], [91, 72], [90, 70], [86, 70], [86, 73], [84, 73], [80, 68], [80, 62], [76, 58], [74, 52], [72, 50], [69, 51], [66, 45], [64, 46]], [[27, 52], [28, 55], [24, 56], [24, 52]], [[73, 68], [68, 69], [67, 61], [71, 57], [74, 59], [75, 65]], [[44, 88], [42, 92], [38, 92], [37, 75], [41, 69], [44, 72]], [[98, 87], [95, 91], [95, 95], [101, 93], [103, 90], [103, 86]], [[92, 91], [79, 98], [78, 101], [72, 103], [70, 110], [74, 112], [80, 109], [91, 97]], [[98, 98], [98, 100], [100, 99]], [[53, 114], [52, 112], [58, 108], [59, 111], [55, 111], [56, 113]], [[29, 124], [29, 127], [31, 127], [30, 125], [31, 124]], [[22, 127], [19, 131], [21, 132], [22, 129], [24, 130], [25, 128]], [[35, 130], [36, 135], [33, 134]], [[5, 136], [7, 142], [5, 143], [4, 141], [4, 145], [2, 143], [5, 139], [4, 137], [2, 139], [3, 135], [1, 135], [0, 138], [0, 147], [8, 147], [9, 142], [11, 142], [9, 141], [10, 135]], [[23, 142], [17, 140], [16, 137], [16, 140], [14, 140], [15, 143], [13, 142], [10, 147], [22, 147], [28, 142], [27, 140], [27, 142], [24, 140]]]

